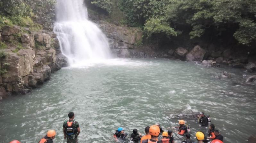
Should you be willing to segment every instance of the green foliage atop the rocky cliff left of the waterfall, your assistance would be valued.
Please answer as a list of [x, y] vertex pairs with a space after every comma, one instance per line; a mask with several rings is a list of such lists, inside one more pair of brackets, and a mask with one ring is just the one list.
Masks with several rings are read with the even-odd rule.
[[51, 21], [55, 0], [1, 0], [0, 26], [19, 25], [38, 27], [33, 20]]

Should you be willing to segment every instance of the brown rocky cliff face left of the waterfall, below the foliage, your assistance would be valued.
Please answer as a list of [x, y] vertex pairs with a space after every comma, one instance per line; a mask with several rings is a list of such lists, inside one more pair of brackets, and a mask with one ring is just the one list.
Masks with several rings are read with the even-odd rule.
[[26, 94], [49, 80], [51, 73], [67, 66], [52, 32], [4, 26], [0, 35], [5, 45], [0, 50], [0, 99]]

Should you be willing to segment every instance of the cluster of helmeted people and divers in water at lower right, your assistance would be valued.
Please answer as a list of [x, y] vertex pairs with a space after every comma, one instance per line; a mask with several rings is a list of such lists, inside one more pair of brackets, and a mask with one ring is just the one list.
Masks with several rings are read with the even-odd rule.
[[[204, 115], [204, 112], [200, 112], [198, 115], [198, 122], [206, 127], [211, 118]], [[174, 127], [179, 135], [186, 136], [181, 143], [195, 143], [191, 139], [190, 127], [185, 124], [184, 120], [179, 120], [179, 127]], [[156, 123], [152, 126], [147, 126], [145, 128], [146, 135], [142, 136], [141, 133], [138, 133], [137, 129], [134, 129], [131, 135], [128, 138], [134, 143], [174, 143], [173, 131], [168, 130], [164, 131], [159, 123]], [[162, 138], [159, 136], [162, 133]], [[124, 133], [124, 129], [119, 127], [115, 130], [114, 137], [118, 141], [123, 141], [127, 138], [127, 133]], [[209, 126], [208, 135], [204, 135], [203, 132], [196, 133], [197, 143], [223, 143], [223, 136], [219, 133], [219, 130], [215, 129], [215, 126], [211, 124]]]

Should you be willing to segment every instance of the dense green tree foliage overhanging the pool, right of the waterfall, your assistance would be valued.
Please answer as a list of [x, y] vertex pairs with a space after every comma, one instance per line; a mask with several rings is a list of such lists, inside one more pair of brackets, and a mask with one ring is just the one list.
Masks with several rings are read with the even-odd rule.
[[188, 30], [194, 38], [226, 31], [241, 44], [256, 40], [255, 0], [122, 0], [120, 8], [132, 23], [145, 26], [148, 36]]

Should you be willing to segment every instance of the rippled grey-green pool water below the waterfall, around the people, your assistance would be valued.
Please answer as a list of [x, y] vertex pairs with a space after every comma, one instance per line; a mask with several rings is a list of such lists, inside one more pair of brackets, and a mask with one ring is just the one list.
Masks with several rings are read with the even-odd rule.
[[[218, 79], [223, 71], [233, 78]], [[37, 143], [50, 129], [64, 143], [62, 125], [69, 112], [80, 124], [80, 143], [114, 143], [118, 127], [132, 133], [156, 122], [164, 130], [178, 125], [177, 114], [203, 111], [221, 130], [224, 143], [246, 143], [256, 134], [256, 85], [242, 70], [206, 68], [161, 59], [114, 59], [62, 68], [40, 88], [1, 102], [0, 143]], [[207, 128], [184, 119], [191, 136]], [[183, 139], [174, 133], [177, 143]], [[195, 141], [195, 139], [194, 139]]]

